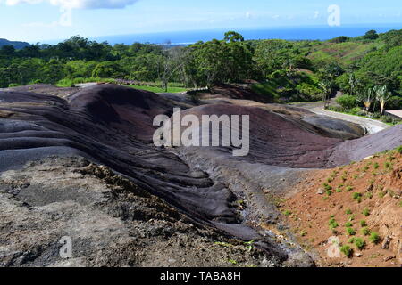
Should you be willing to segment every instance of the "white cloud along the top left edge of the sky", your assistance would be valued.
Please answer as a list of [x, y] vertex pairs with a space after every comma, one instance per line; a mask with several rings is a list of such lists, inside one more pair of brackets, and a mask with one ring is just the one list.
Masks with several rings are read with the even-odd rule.
[[55, 6], [63, 6], [74, 9], [119, 9], [138, 0], [4, 0], [5, 4], [13, 6], [16, 4], [39, 4], [47, 2]]

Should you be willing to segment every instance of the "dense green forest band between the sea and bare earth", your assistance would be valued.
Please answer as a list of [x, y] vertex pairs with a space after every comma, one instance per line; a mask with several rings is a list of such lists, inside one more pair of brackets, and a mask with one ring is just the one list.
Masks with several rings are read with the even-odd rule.
[[402, 108], [402, 30], [329, 41], [246, 41], [230, 31], [188, 46], [112, 46], [76, 36], [58, 45], [0, 49], [0, 87], [102, 80], [163, 90], [252, 80], [255, 93], [272, 102], [327, 102], [341, 91], [342, 109], [381, 113]]

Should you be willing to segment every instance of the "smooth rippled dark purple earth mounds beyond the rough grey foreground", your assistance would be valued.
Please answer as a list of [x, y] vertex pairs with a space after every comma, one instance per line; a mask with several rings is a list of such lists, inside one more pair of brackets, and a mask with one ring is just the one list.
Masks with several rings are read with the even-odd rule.
[[[197, 226], [254, 240], [255, 248], [281, 265], [313, 265], [302, 248], [287, 245], [262, 226], [277, 223], [279, 216], [274, 201], [260, 199], [263, 192], [298, 183], [313, 168], [346, 164], [402, 144], [402, 126], [345, 142], [325, 135], [331, 129], [292, 116], [227, 103], [183, 114], [249, 115], [247, 157], [233, 158], [231, 147], [157, 148], [152, 143], [153, 119], [171, 116], [175, 106], [160, 95], [117, 85], [88, 87], [65, 99], [0, 92], [0, 171], [9, 177], [10, 171], [49, 157], [86, 159], [163, 200]], [[57, 194], [56, 185], [50, 196], [38, 196], [38, 186], [22, 186], [5, 191], [29, 207], [67, 199]]]

